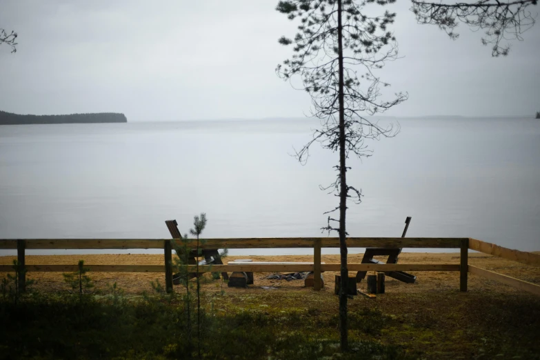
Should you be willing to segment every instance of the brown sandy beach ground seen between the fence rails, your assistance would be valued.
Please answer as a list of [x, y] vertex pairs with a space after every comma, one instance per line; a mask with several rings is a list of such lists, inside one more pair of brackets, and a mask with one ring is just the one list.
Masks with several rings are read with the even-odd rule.
[[[350, 263], [361, 263], [363, 254], [349, 254]], [[0, 264], [10, 264], [15, 257], [0, 257]], [[85, 254], [85, 255], [28, 255], [26, 263], [30, 264], [76, 264], [83, 259], [88, 265], [97, 264], [137, 264], [137, 265], [157, 265], [163, 263], [163, 256], [158, 254]], [[234, 259], [252, 259], [253, 261], [312, 261], [310, 255], [288, 255], [288, 256], [242, 256], [227, 257], [224, 262]], [[383, 258], [380, 258], [384, 261]], [[339, 263], [339, 255], [323, 255], [322, 261], [326, 263]], [[459, 263], [458, 253], [402, 253], [399, 257], [399, 263]], [[507, 261], [486, 254], [470, 253], [469, 264], [506, 274], [517, 279], [530, 281], [540, 284], [540, 268], [528, 266], [514, 261]], [[163, 284], [164, 274], [161, 273], [128, 273], [128, 272], [90, 272], [90, 277], [94, 281], [94, 291], [108, 292], [110, 285], [117, 281], [117, 286], [123, 289], [126, 294], [142, 294], [143, 292], [152, 292], [150, 281], [159, 279]], [[324, 272], [323, 292], [333, 292], [334, 275], [337, 272]], [[350, 272], [354, 276], [355, 272]], [[459, 272], [414, 272], [417, 276], [417, 282], [414, 284], [401, 283], [390, 277], [386, 278], [386, 292], [411, 293], [411, 292], [444, 292], [459, 290]], [[221, 288], [226, 292], [266, 292], [261, 286], [272, 286], [276, 289], [271, 291], [287, 292], [306, 292], [312, 291], [312, 288], [305, 288], [303, 280], [268, 280], [264, 279], [268, 273], [255, 273], [254, 284], [248, 289], [228, 288], [226, 283], [221, 280], [210, 281], [210, 274], [206, 274], [208, 279], [203, 285], [206, 292], [220, 291]], [[63, 277], [59, 272], [29, 272], [28, 279], [35, 281], [32, 288], [50, 292], [67, 291], [68, 285], [64, 283]], [[6, 277], [6, 273], [0, 272], [0, 279]], [[468, 286], [470, 290], [483, 290], [488, 292], [517, 292], [510, 286], [490, 281], [477, 275], [469, 274]], [[365, 289], [366, 283], [359, 283], [359, 289]], [[175, 290], [182, 291], [181, 286], [175, 286]]]

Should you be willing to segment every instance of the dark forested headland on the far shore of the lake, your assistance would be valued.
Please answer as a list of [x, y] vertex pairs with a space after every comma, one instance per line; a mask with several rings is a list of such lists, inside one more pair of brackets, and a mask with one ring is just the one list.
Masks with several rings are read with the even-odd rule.
[[19, 115], [0, 111], [0, 125], [31, 123], [127, 123], [126, 115], [115, 112], [99, 112], [70, 115]]

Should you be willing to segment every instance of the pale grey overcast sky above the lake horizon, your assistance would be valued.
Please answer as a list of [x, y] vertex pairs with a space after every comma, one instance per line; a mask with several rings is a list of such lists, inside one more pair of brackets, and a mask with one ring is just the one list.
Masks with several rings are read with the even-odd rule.
[[[128, 121], [303, 117], [306, 92], [277, 77], [292, 54], [277, 39], [297, 23], [274, 0], [0, 0], [0, 110], [21, 114], [123, 112]], [[452, 41], [397, 1], [401, 59], [379, 73], [408, 101], [396, 117], [533, 115], [540, 110], [540, 25], [491, 57], [481, 32]], [[537, 6], [533, 7], [538, 11]]]

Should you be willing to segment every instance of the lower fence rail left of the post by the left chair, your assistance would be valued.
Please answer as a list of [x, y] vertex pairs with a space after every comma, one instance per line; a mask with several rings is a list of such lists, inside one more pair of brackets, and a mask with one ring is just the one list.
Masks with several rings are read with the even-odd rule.
[[[164, 265], [87, 265], [91, 272], [165, 272]], [[74, 272], [77, 265], [26, 265], [29, 272]], [[12, 265], [0, 265], [0, 272], [13, 272]]]

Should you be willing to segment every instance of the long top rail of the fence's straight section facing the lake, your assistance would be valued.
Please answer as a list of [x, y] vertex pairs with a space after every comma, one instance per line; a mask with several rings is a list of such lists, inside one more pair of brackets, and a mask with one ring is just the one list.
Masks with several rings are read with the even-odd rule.
[[[206, 239], [203, 249], [339, 248], [337, 237]], [[163, 249], [166, 239], [26, 239], [27, 249]], [[10, 241], [13, 242], [11, 245]], [[0, 239], [0, 249], [17, 248], [14, 239]], [[349, 248], [459, 248], [461, 238], [350, 237]]]

